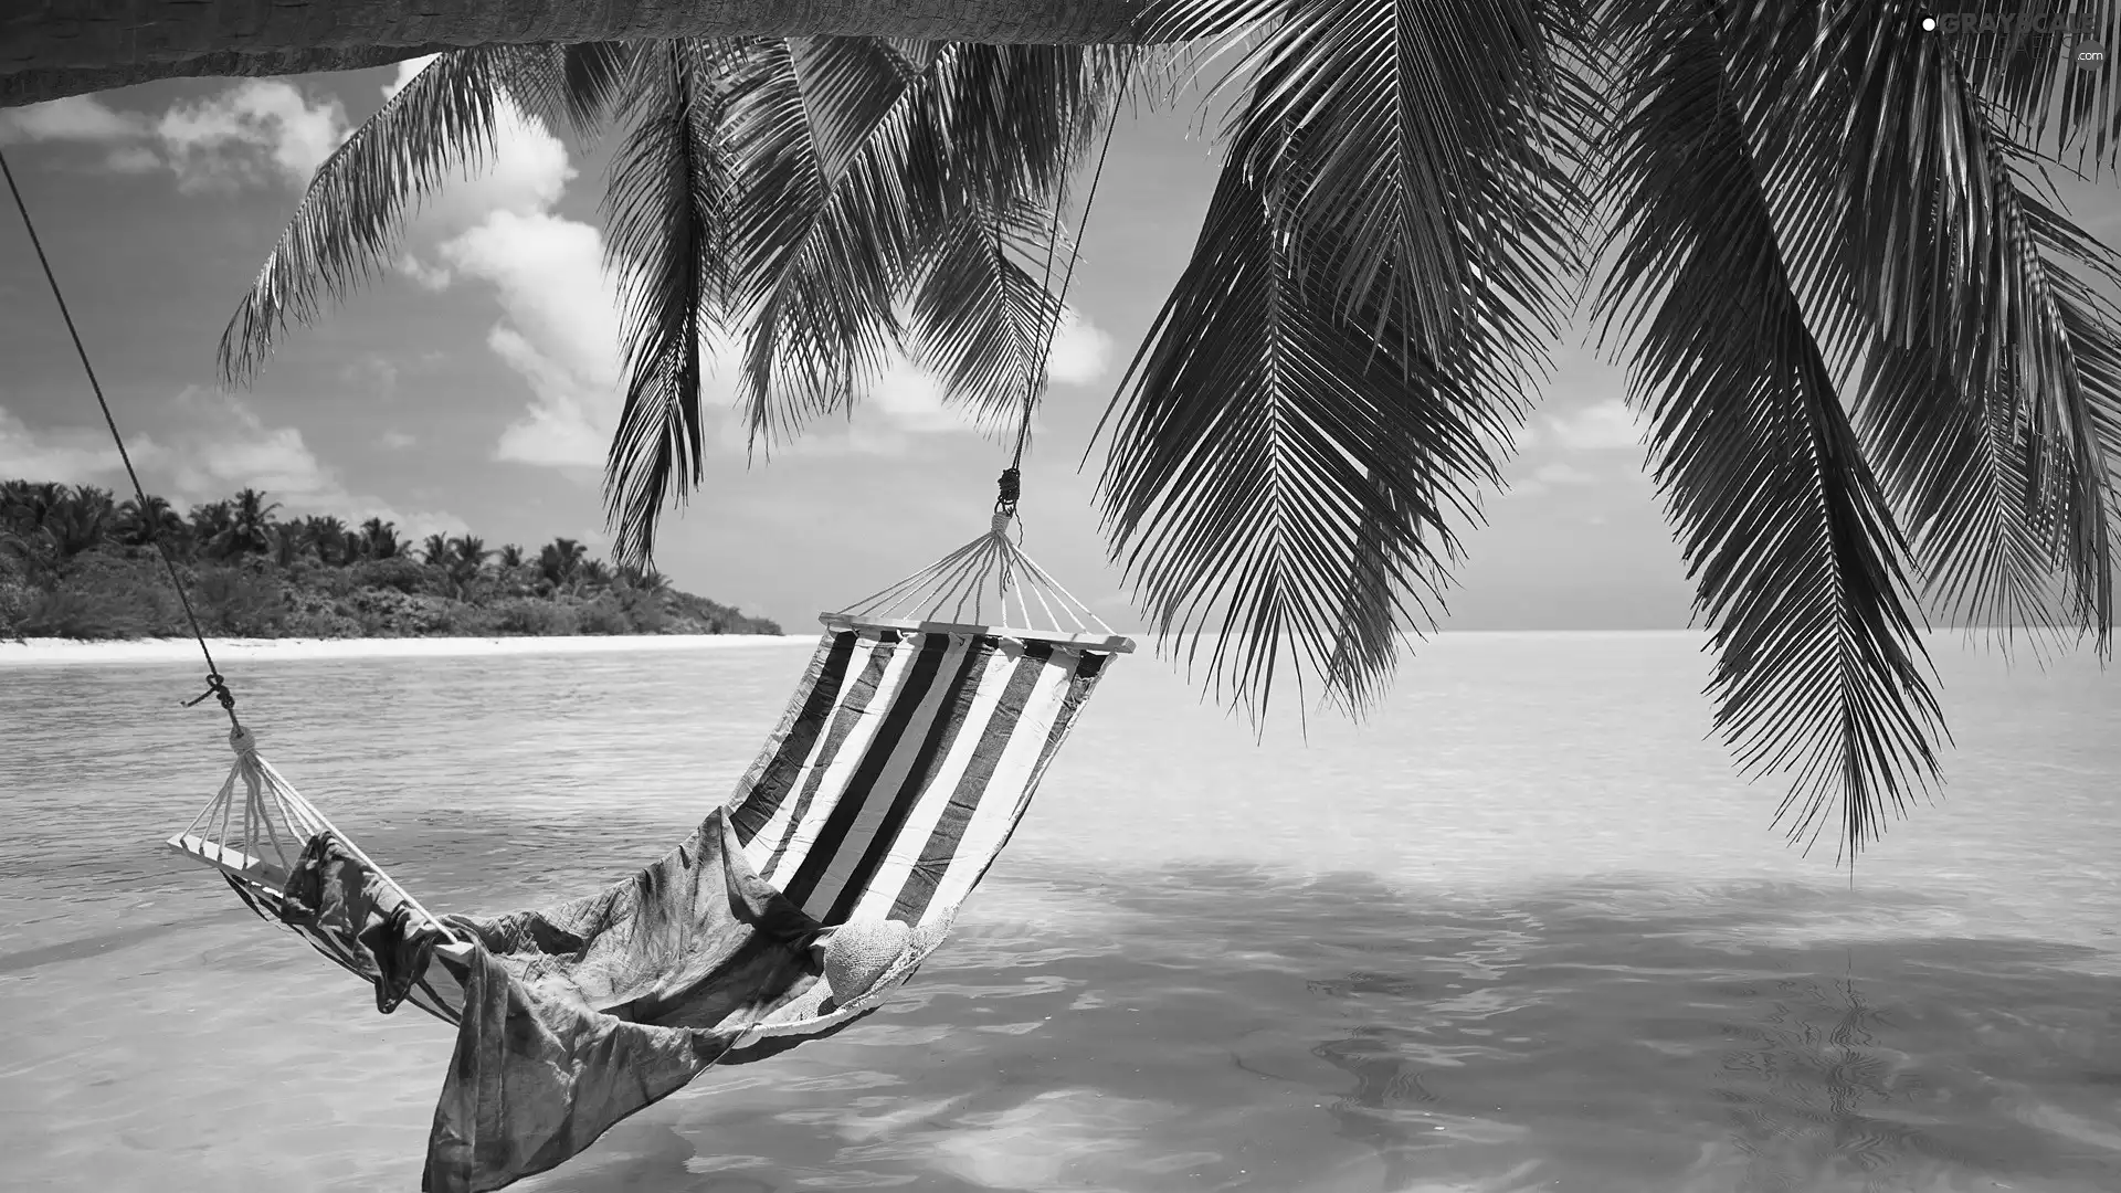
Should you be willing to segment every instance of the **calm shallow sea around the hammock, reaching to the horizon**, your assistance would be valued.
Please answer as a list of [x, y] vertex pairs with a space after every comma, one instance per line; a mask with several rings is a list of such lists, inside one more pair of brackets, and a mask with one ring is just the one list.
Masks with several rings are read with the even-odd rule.
[[[810, 647], [231, 664], [437, 911], [588, 894], [728, 796]], [[2115, 1193], [2121, 677], [1932, 639], [1945, 783], [1773, 828], [1686, 633], [1440, 635], [1264, 730], [1111, 669], [952, 938], [524, 1193]], [[0, 1189], [418, 1189], [452, 1030], [159, 843], [195, 664], [0, 669]]]

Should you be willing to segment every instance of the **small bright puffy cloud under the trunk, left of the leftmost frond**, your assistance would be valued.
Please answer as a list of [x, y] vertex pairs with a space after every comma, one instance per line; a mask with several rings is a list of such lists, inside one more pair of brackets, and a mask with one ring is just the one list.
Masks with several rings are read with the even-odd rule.
[[278, 79], [246, 79], [195, 104], [176, 104], [155, 123], [155, 138], [185, 191], [257, 180], [267, 166], [301, 187], [348, 132], [337, 100], [310, 104], [293, 83]]

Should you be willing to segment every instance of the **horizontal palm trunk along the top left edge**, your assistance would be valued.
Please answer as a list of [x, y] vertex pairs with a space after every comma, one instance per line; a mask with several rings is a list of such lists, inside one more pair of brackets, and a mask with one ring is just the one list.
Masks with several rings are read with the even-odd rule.
[[151, 79], [384, 66], [498, 42], [867, 34], [1124, 42], [1147, 0], [4, 0], [0, 106]]

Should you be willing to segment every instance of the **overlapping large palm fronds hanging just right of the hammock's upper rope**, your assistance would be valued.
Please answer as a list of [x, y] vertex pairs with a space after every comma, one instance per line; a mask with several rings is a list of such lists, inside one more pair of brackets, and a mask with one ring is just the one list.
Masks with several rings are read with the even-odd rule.
[[1251, 15], [1158, 17], [1158, 36], [1243, 42], [1251, 100], [1107, 412], [1101, 501], [1150, 618], [1213, 637], [1220, 692], [1264, 711], [1287, 660], [1362, 707], [1400, 628], [1442, 607], [1455, 526], [1497, 484], [1582, 276], [1553, 140], [1580, 144], [1587, 108], [1546, 57], [1582, 21], [1538, 0]]

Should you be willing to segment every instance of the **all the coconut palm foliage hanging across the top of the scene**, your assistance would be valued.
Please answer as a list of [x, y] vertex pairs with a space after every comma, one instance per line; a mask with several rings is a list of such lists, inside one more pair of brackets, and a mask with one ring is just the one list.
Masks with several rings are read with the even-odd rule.
[[[914, 32], [823, 8], [804, 32]], [[1287, 677], [1377, 698], [1442, 609], [1591, 282], [1714, 635], [1718, 728], [1748, 773], [1790, 779], [1792, 834], [1839, 817], [1860, 849], [1934, 779], [1926, 605], [2106, 650], [2121, 310], [2102, 287], [2121, 259], [2045, 174], [2121, 163], [2108, 81], [2009, 34], [1928, 34], [1911, 0], [1048, 8], [1073, 30], [1124, 8], [1107, 40], [1184, 45], [1220, 72], [1222, 178], [1107, 412], [1099, 501], [1143, 613], [1203, 630], [1232, 698], [1260, 711]], [[2113, 0], [1962, 8], [2121, 28]], [[630, 129], [607, 202], [624, 563], [700, 467], [702, 327], [744, 346], [755, 431], [844, 408], [895, 342], [959, 348], [954, 393], [1003, 401], [1012, 327], [1039, 327], [1052, 295], [988, 267], [1007, 280], [965, 301], [980, 234], [948, 229], [1039, 225], [1118, 55], [961, 89], [942, 81], [980, 57], [961, 42], [791, 42], [785, 6], [747, 11], [698, 17], [757, 21], [740, 30], [568, 25], [643, 38], [626, 49], [437, 59], [320, 172], [231, 329], [231, 371], [384, 259], [507, 96]], [[918, 32], [952, 36], [948, 17]], [[276, 53], [327, 45], [286, 36]], [[1063, 132], [1018, 161], [997, 129], [1039, 110]], [[923, 316], [923, 293], [942, 310]]]

